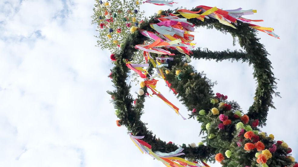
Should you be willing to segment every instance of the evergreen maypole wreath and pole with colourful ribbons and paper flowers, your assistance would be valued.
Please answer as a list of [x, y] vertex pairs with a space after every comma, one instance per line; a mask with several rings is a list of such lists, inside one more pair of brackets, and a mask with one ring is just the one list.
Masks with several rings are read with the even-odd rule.
[[[278, 92], [275, 92], [276, 78], [271, 71], [268, 53], [263, 44], [259, 43], [256, 30], [266, 32], [273, 37], [278, 36], [270, 28], [249, 24], [248, 22], [252, 20], [239, 17], [245, 15], [245, 12], [254, 13], [253, 10], [223, 11], [216, 7], [206, 6], [198, 6], [193, 10], [180, 9], [175, 13], [170, 10], [163, 11], [140, 24], [138, 31], [127, 37], [121, 50], [111, 55], [115, 66], [111, 69], [109, 77], [112, 78], [116, 90], [108, 93], [112, 96], [112, 102], [116, 108], [115, 114], [119, 118], [117, 125], [127, 127], [132, 141], [142, 152], [172, 167], [208, 166], [205, 160], [216, 160], [223, 166], [298, 166], [294, 163], [294, 158], [290, 156], [292, 150], [284, 141], [275, 141], [272, 134], [259, 133], [258, 127], [265, 125], [268, 109], [274, 108], [272, 95], [278, 95]], [[232, 22], [227, 21], [233, 20], [230, 18], [232, 15], [238, 16], [234, 17], [237, 19]], [[187, 21], [184, 18], [187, 18]], [[232, 23], [236, 24], [237, 28]], [[179, 33], [179, 30], [174, 28], [175, 26], [184, 31], [182, 42], [181, 38], [171, 40], [169, 32], [167, 32], [169, 34], [162, 33], [164, 30]], [[238, 38], [245, 52], [236, 50], [212, 52], [200, 48], [189, 51], [185, 48], [189, 47], [186, 46], [187, 44], [191, 45], [189, 43], [191, 36], [187, 37], [185, 34], [188, 34], [193, 26], [216, 28], [221, 32], [230, 33], [234, 38]], [[142, 45], [148, 39], [147, 37], [153, 39], [154, 42], [147, 46]], [[168, 41], [162, 40], [162, 37]], [[137, 49], [144, 51], [146, 65], [129, 61]], [[167, 56], [160, 57], [160, 54]], [[254, 102], [248, 113], [243, 115], [239, 111], [239, 105], [234, 101], [227, 101], [226, 96], [220, 93], [214, 95], [212, 91], [214, 83], [203, 73], [197, 72], [193, 66], [187, 64], [189, 61], [187, 55], [194, 59], [215, 59], [216, 61], [229, 59], [252, 64], [257, 88]], [[148, 68], [145, 70], [142, 67]], [[140, 84], [141, 89], [137, 99], [132, 98], [129, 92], [131, 86], [126, 83], [129, 69], [137, 72], [144, 79], [144, 82]], [[149, 89], [153, 95], [161, 98], [177, 114], [180, 114], [179, 109], [155, 89], [157, 80], [152, 77], [153, 69], [157, 69], [159, 76], [191, 111], [189, 116], [202, 123], [201, 133], [207, 135], [203, 137], [203, 142], [198, 143], [198, 146], [194, 143], [188, 146], [166, 143], [156, 138], [151, 131], [147, 130], [146, 124], [140, 120], [145, 95], [149, 94], [147, 92]], [[142, 73], [143, 71], [145, 73]]]

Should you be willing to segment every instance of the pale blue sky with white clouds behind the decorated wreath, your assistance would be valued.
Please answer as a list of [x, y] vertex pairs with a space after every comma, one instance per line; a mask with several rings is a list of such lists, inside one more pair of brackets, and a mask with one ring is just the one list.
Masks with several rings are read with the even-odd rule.
[[[274, 98], [267, 126], [276, 140], [284, 140], [298, 159], [298, 20], [297, 1], [285, 0], [176, 0], [176, 7], [198, 5], [223, 9], [256, 9], [249, 19], [263, 19], [280, 40], [260, 32], [258, 37], [272, 62], [282, 98]], [[0, 166], [101, 167], [164, 166], [142, 154], [125, 127], [117, 127], [115, 109], [107, 90], [112, 68], [108, 50], [96, 45], [96, 25], [91, 24], [94, 1], [0, 0]], [[152, 11], [152, 8], [154, 10]], [[167, 9], [142, 5], [146, 16]], [[198, 28], [196, 46], [209, 50], [240, 49], [231, 35]], [[218, 84], [214, 92], [228, 95], [247, 111], [256, 83], [247, 63], [193, 60], [190, 64]], [[135, 85], [135, 83], [132, 83]], [[157, 86], [182, 115], [189, 111], [160, 81]], [[139, 86], [131, 92], [136, 97]], [[176, 144], [198, 143], [200, 124], [182, 120], [156, 97], [145, 102], [142, 121], [160, 139]], [[160, 128], [162, 127], [162, 128]], [[218, 167], [220, 164], [212, 164]]]

